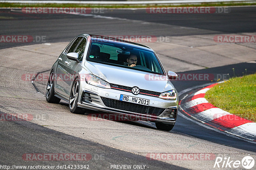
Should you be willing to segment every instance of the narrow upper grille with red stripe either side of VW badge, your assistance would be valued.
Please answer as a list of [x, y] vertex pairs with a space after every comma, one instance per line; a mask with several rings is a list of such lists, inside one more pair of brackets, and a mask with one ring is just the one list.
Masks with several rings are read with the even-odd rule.
[[[132, 93], [132, 87], [128, 87], [128, 86], [122, 86], [122, 85], [117, 85], [117, 84], [110, 84], [110, 87], [112, 89], [116, 89], [116, 90], [121, 90], [121, 91], [127, 91], [127, 92], [131, 92]], [[150, 91], [150, 90], [144, 90], [144, 89], [140, 89], [140, 95], [146, 95], [146, 96], [153, 96], [153, 97], [158, 97], [160, 96], [160, 92], [156, 92], [156, 91]]]

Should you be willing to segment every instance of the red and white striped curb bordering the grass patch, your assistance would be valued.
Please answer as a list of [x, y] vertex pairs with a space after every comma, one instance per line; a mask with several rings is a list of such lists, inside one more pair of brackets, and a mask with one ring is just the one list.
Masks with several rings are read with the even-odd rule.
[[207, 86], [182, 99], [180, 109], [203, 124], [256, 142], [256, 123], [221, 110], [204, 98], [206, 91], [217, 84]]

